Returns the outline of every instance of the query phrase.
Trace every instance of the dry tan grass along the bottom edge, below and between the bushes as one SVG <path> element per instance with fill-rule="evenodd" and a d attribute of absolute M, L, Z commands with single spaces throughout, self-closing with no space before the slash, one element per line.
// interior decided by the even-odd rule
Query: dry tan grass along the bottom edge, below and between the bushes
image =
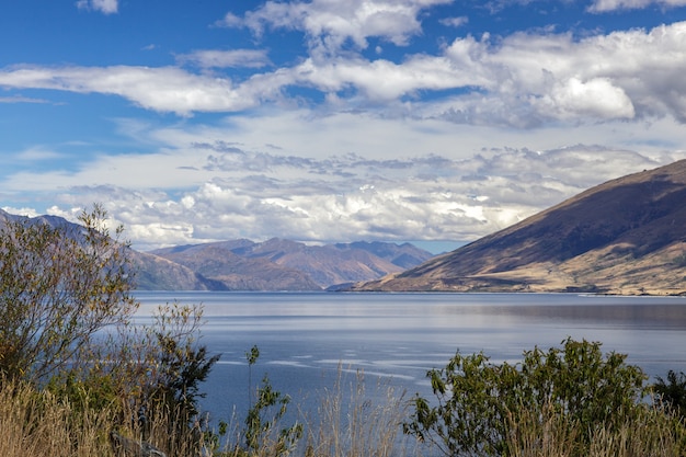
<path fill-rule="evenodd" d="M 110 442 L 110 432 L 140 439 L 142 436 L 168 457 L 194 457 L 201 449 L 213 448 L 221 457 L 396 457 L 434 455 L 435 449 L 420 448 L 401 434 L 408 419 L 408 402 L 402 392 L 388 384 L 377 384 L 368 395 L 362 373 L 346 381 L 343 370 L 332 389 L 320 392 L 320 405 L 313 415 L 296 414 L 305 425 L 305 435 L 293 449 L 279 447 L 284 424 L 274 423 L 265 431 L 260 449 L 245 453 L 241 421 L 229 425 L 221 448 L 205 443 L 199 429 L 183 436 L 170 433 L 174 422 L 164 411 L 150 412 L 151 421 L 142 430 L 132 421 L 134 411 L 121 405 L 98 411 L 70 404 L 48 391 L 27 385 L 4 385 L 0 390 L 0 456 L 2 457 L 119 457 Z M 293 404 L 297 408 L 296 404 Z M 514 419 L 516 418 L 516 420 Z M 235 418 L 236 419 L 236 418 Z M 287 424 L 288 426 L 290 424 Z M 581 425 L 571 423 L 552 409 L 542 414 L 521 411 L 511 418 L 507 441 L 512 457 L 675 457 L 686 455 L 686 424 L 683 420 L 654 408 L 645 408 L 636 420 L 618 430 L 601 427 L 593 433 L 588 447 L 580 446 Z M 205 454 L 208 455 L 208 454 Z"/>

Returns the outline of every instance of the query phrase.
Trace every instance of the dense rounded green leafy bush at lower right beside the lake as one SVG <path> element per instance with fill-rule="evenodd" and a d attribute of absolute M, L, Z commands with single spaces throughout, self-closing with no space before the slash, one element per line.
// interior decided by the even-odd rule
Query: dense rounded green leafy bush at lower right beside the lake
<path fill-rule="evenodd" d="M 517 414 L 530 420 L 552 412 L 562 423 L 581 425 L 580 448 L 569 450 L 584 455 L 596 427 L 611 430 L 636 413 L 647 377 L 625 364 L 626 355 L 604 357 L 599 343 L 568 339 L 563 344 L 525 352 L 517 365 L 495 365 L 481 353 L 458 352 L 445 368 L 427 373 L 437 405 L 418 396 L 405 433 L 434 443 L 448 456 L 506 456 Z"/>

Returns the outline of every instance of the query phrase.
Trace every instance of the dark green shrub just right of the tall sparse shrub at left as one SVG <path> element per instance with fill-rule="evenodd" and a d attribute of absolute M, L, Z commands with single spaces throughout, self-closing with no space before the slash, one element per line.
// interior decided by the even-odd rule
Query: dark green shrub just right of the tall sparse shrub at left
<path fill-rule="evenodd" d="M 151 325 L 140 325 L 135 329 L 138 332 L 128 335 L 125 349 L 133 350 L 135 357 L 116 368 L 127 378 L 124 387 L 135 402 L 132 413 L 139 436 L 147 439 L 155 435 L 152 423 L 158 422 L 158 444 L 172 454 L 199 452 L 203 431 L 198 401 L 205 397 L 199 384 L 220 357 L 210 356 L 199 344 L 202 319 L 201 305 L 158 307 Z M 159 424 L 159 418 L 167 418 L 165 423 Z"/>

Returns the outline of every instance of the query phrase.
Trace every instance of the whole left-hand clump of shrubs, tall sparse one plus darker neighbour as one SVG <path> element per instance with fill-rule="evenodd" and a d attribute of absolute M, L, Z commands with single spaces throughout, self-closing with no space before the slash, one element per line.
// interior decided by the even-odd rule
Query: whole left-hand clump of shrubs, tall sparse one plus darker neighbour
<path fill-rule="evenodd" d="M 105 432 L 135 426 L 138 437 L 163 436 L 174 454 L 197 450 L 198 385 L 218 359 L 197 344 L 202 308 L 168 305 L 152 325 L 134 325 L 123 229 L 112 238 L 99 205 L 79 220 L 18 218 L 0 228 L 0 388 L 24 382 L 68 405 L 60 414 L 75 424 L 106 410 Z M 144 409 L 146 426 L 132 423 Z"/>

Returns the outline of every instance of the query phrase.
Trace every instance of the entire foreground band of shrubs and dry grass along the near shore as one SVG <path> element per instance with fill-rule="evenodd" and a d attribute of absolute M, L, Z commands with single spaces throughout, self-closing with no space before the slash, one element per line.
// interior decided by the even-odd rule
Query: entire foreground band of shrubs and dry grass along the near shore
<path fill-rule="evenodd" d="M 2 456 L 686 454 L 686 375 L 648 385 L 625 355 L 573 340 L 514 365 L 458 352 L 428 372 L 433 399 L 381 386 L 375 403 L 363 374 L 350 391 L 340 378 L 313 416 L 265 377 L 249 381 L 244 420 L 210 429 L 197 401 L 218 356 L 198 343 L 202 308 L 133 325 L 127 244 L 105 216 L 83 213 L 80 232 L 19 220 L 0 233 Z M 245 355 L 251 369 L 258 347 Z"/>

